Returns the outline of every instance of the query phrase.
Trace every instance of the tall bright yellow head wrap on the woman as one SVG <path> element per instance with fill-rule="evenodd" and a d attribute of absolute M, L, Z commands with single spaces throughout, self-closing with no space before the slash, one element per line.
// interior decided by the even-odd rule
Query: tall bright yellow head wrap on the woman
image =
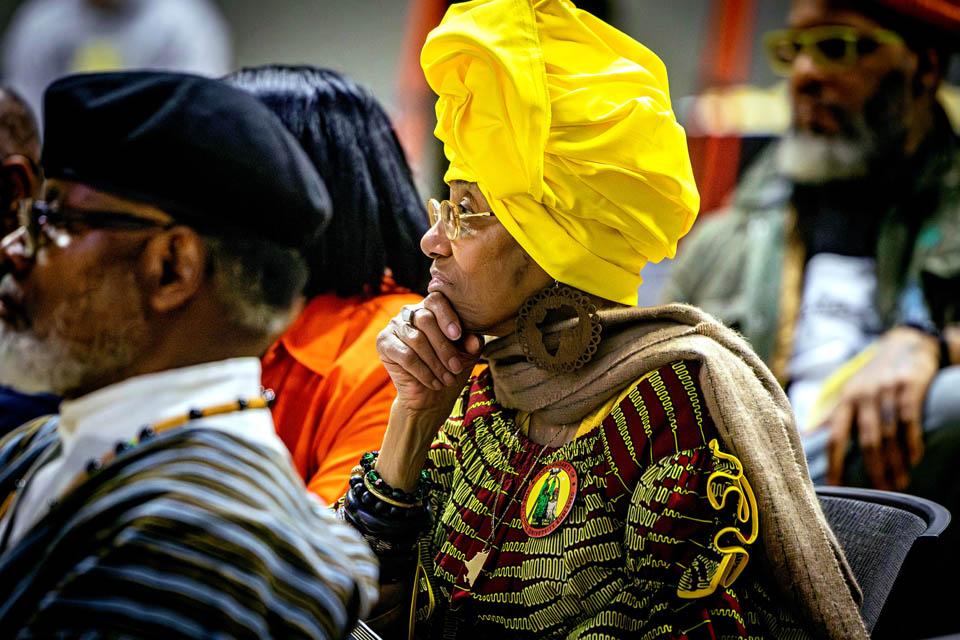
<path fill-rule="evenodd" d="M 437 93 L 445 180 L 478 183 L 553 278 L 637 303 L 700 206 L 667 73 L 567 0 L 455 4 L 420 56 Z"/>

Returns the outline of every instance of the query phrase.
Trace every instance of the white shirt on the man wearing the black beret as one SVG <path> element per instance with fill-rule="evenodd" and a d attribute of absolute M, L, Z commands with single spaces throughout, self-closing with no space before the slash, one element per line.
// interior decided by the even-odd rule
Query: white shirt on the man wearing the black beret
<path fill-rule="evenodd" d="M 7 549 L 11 548 L 46 515 L 54 500 L 63 497 L 70 485 L 86 474 L 90 460 L 99 460 L 118 442 L 135 440 L 145 426 L 187 414 L 191 409 L 258 397 L 260 361 L 234 358 L 137 376 L 64 401 L 57 425 L 60 453 L 26 478 L 27 485 L 14 508 L 0 522 L 0 537 L 13 517 L 7 543 Z M 196 424 L 230 432 L 289 459 L 268 409 L 210 416 Z"/>

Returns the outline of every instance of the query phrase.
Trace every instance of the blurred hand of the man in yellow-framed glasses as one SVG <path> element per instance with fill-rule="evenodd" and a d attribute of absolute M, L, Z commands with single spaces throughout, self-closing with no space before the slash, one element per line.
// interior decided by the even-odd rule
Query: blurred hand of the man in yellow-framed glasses
<path fill-rule="evenodd" d="M 851 435 L 855 435 L 871 484 L 903 489 L 909 469 L 923 457 L 923 403 L 940 366 L 937 340 L 898 327 L 880 338 L 873 359 L 858 371 L 827 418 L 827 482 L 843 481 Z"/>

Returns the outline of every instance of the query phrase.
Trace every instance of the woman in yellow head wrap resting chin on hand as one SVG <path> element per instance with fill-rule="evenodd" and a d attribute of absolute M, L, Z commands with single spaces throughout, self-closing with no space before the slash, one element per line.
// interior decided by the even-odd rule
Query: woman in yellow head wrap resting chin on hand
<path fill-rule="evenodd" d="M 629 306 L 698 206 L 660 60 L 566 0 L 475 0 L 421 62 L 450 199 L 340 505 L 381 559 L 372 624 L 866 637 L 776 380 L 701 312 Z"/>

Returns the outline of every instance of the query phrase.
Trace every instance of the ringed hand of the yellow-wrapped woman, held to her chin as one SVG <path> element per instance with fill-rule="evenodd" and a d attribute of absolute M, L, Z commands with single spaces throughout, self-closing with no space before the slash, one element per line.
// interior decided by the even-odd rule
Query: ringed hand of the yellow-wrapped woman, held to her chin
<path fill-rule="evenodd" d="M 483 338 L 463 335 L 460 318 L 440 293 L 394 317 L 377 338 L 383 366 L 397 388 L 397 405 L 408 413 L 446 418 L 480 357 Z"/>

